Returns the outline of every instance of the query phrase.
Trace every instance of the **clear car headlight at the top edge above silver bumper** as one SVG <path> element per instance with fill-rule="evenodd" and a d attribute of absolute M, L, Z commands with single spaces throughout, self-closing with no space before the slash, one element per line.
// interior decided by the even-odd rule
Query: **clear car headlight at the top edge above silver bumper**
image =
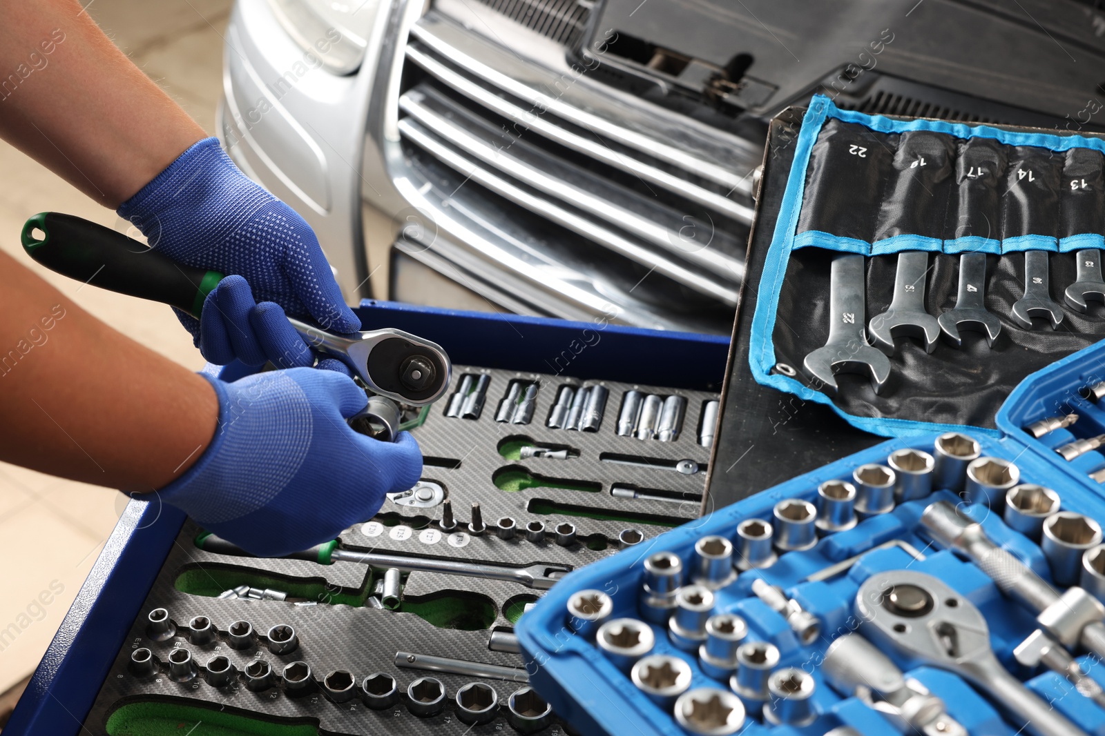
<path fill-rule="evenodd" d="M 377 11 L 388 0 L 269 0 L 273 14 L 304 52 L 334 74 L 356 72 Z"/>

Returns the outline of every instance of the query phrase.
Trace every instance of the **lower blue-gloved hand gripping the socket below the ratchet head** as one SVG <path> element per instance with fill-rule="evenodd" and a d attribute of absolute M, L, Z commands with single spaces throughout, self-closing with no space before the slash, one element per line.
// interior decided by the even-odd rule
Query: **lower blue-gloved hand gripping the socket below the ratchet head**
<path fill-rule="evenodd" d="M 346 423 L 365 392 L 332 371 L 270 371 L 225 383 L 219 426 L 194 466 L 161 500 L 256 555 L 285 555 L 371 519 L 385 494 L 418 482 L 422 456 L 410 433 L 381 442 Z"/>

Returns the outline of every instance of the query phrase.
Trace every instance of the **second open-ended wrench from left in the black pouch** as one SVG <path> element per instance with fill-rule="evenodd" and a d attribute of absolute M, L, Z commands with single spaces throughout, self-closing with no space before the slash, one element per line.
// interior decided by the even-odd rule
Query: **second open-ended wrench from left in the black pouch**
<path fill-rule="evenodd" d="M 925 284 L 928 280 L 928 254 L 904 250 L 898 254 L 894 273 L 894 296 L 882 314 L 873 317 L 867 331 L 871 340 L 887 355 L 894 354 L 894 338 L 916 338 L 925 352 L 936 350 L 940 326 L 925 311 Z"/>

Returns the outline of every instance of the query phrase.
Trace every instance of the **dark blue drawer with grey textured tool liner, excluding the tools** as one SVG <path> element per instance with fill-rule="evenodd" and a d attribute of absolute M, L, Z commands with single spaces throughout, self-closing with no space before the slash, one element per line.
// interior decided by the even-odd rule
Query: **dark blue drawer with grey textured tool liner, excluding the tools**
<path fill-rule="evenodd" d="M 481 537 L 442 534 L 435 526 L 441 515 L 440 506 L 411 509 L 389 500 L 375 523 L 343 533 L 343 546 L 462 561 L 517 565 L 539 562 L 578 567 L 612 554 L 617 547 L 610 546 L 610 541 L 617 540 L 622 530 L 636 529 L 651 536 L 697 513 L 697 500 L 662 502 L 614 498 L 610 487 L 615 482 L 628 483 L 641 490 L 660 489 L 694 499 L 702 493 L 703 472 L 684 474 L 667 468 L 615 465 L 600 461 L 599 455 L 634 455 L 651 458 L 653 462 L 690 459 L 705 467 L 709 450 L 696 441 L 697 425 L 704 401 L 716 398 L 713 392 L 724 375 L 727 350 L 724 338 L 627 329 L 602 320 L 570 323 L 383 302 L 366 302 L 359 314 L 366 329 L 397 327 L 442 344 L 455 362 L 450 394 L 464 374 L 490 374 L 487 398 L 480 419 L 446 417 L 446 394 L 445 399 L 429 409 L 424 424 L 413 429 L 423 454 L 431 459 L 423 470 L 423 479 L 444 487 L 462 529 L 471 518 L 471 502 L 478 501 L 488 531 Z M 478 363 L 481 367 L 466 363 Z M 228 374 L 233 373 L 233 369 L 228 369 Z M 622 377 L 628 382 L 613 380 Z M 534 419 L 528 425 L 494 420 L 498 401 L 512 378 L 541 382 Z M 599 431 L 546 427 L 558 387 L 581 383 L 602 383 L 610 390 Z M 665 395 L 677 393 L 687 398 L 683 429 L 675 441 L 617 436 L 622 393 L 631 387 Z M 503 457 L 498 451 L 502 440 L 519 437 L 541 446 L 568 447 L 577 450 L 579 457 L 520 461 Z M 567 484 L 586 481 L 594 491 L 540 487 L 511 492 L 495 486 L 493 478 L 497 471 L 520 468 L 533 474 L 567 481 Z M 554 504 L 551 512 L 547 509 L 540 513 L 529 511 L 533 503 L 541 502 L 538 500 Z M 565 510 L 555 504 L 573 508 Z M 580 516 L 580 513 L 587 515 Z M 593 518 L 604 514 L 618 519 Z M 494 534 L 495 524 L 504 515 L 517 523 L 519 532 L 513 540 L 502 540 Z M 525 525 L 534 520 L 545 521 L 549 526 L 549 535 L 541 543 L 525 538 Z M 567 547 L 554 543 L 551 526 L 559 521 L 576 524 L 579 530 L 577 543 Z M 513 582 L 411 573 L 404 588 L 404 600 L 414 604 L 411 608 L 421 608 L 428 619 L 439 617 L 439 623 L 444 617 L 449 619 L 448 625 L 471 630 L 439 628 L 414 612 L 328 602 L 356 601 L 358 596 L 371 594 L 379 583 L 369 579 L 367 567 L 345 562 L 324 566 L 301 559 L 262 561 L 213 554 L 194 546 L 192 540 L 198 530 L 191 522 L 181 525 L 182 522 L 179 512 L 168 506 L 159 508 L 156 500 L 149 503 L 133 501 L 128 505 L 13 715 L 8 726 L 11 733 L 81 730 L 102 734 L 106 733 L 106 716 L 120 701 L 166 698 L 169 702 L 185 698 L 185 702 L 203 706 L 239 708 L 265 716 L 295 717 L 299 723 L 318 724 L 327 732 L 343 734 L 380 733 L 381 728 L 389 733 L 463 733 L 467 728 L 457 722 L 452 704 L 441 715 L 423 719 L 408 713 L 403 701 L 394 708 L 376 712 L 359 701 L 341 705 L 330 703 L 318 693 L 291 698 L 280 687 L 260 694 L 244 686 L 217 689 L 207 684 L 202 676 L 177 683 L 165 676 L 164 668 L 160 675 L 141 679 L 131 674 L 127 666 L 130 652 L 138 647 L 148 647 L 161 662 L 167 661 L 169 651 L 175 648 L 190 649 L 200 668 L 218 647 L 218 653 L 229 657 L 239 670 L 256 655 L 269 661 L 276 674 L 285 663 L 303 660 L 318 680 L 332 670 L 345 669 L 357 676 L 358 686 L 369 673 L 388 672 L 396 676 L 402 691 L 419 676 L 438 676 L 450 698 L 465 682 L 481 680 L 491 684 L 504 703 L 523 684 L 401 670 L 396 668 L 393 659 L 396 652 L 407 651 L 522 666 L 516 654 L 490 651 L 488 637 L 493 628 L 509 630 L 506 612 L 514 612 L 526 601 L 535 600 L 540 590 Z M 207 595 L 179 590 L 177 580 L 181 573 L 188 574 L 192 586 L 206 588 Z M 215 589 L 228 580 L 256 580 L 257 575 L 274 578 L 270 587 L 314 584 L 333 591 L 334 598 L 324 596 L 323 602 L 296 606 L 287 601 L 223 600 L 211 595 L 217 595 Z M 211 578 L 207 584 L 204 576 Z M 182 587 L 196 589 L 183 584 Z M 443 601 L 445 597 L 456 600 Z M 168 609 L 181 629 L 166 642 L 154 642 L 146 636 L 146 616 L 157 607 Z M 211 619 L 221 632 L 218 641 L 203 646 L 188 641 L 183 629 L 194 616 Z M 236 620 L 249 621 L 256 631 L 257 642 L 252 648 L 233 650 L 227 646 L 227 629 Z M 288 654 L 273 654 L 264 646 L 263 634 L 276 623 L 290 625 L 297 632 L 299 646 Z M 473 733 L 503 728 L 509 726 L 501 712 L 492 724 L 476 726 Z"/>

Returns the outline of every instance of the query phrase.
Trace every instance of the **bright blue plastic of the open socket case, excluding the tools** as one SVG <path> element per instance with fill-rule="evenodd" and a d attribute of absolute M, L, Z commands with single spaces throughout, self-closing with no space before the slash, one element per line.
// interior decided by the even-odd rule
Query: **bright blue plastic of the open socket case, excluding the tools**
<path fill-rule="evenodd" d="M 997 426 L 1003 433 L 994 437 L 980 430 L 964 428 L 982 447 L 981 455 L 1013 461 L 1020 469 L 1020 482 L 1045 486 L 1056 491 L 1063 511 L 1086 514 L 1105 521 L 1105 491 L 1087 473 L 1105 466 L 1105 456 L 1091 451 L 1067 462 L 1054 448 L 1076 437 L 1105 433 L 1105 406 L 1083 398 L 1080 390 L 1105 378 L 1105 343 L 1097 343 L 1048 369 L 1028 376 L 1008 397 L 997 415 Z M 1070 428 L 1059 429 L 1033 439 L 1022 429 L 1044 417 L 1075 412 L 1080 419 Z M 708 516 L 653 537 L 594 565 L 572 573 L 558 584 L 540 604 L 519 621 L 519 640 L 532 673 L 530 682 L 562 717 L 582 733 L 609 734 L 683 734 L 671 707 L 661 707 L 638 690 L 628 674 L 614 665 L 590 638 L 576 634 L 567 623 L 569 597 L 580 590 L 597 589 L 613 599 L 611 618 L 639 618 L 639 593 L 643 579 L 643 562 L 651 554 L 669 551 L 683 559 L 684 570 L 691 569 L 695 542 L 705 535 L 734 538 L 736 526 L 747 519 L 771 520 L 772 509 L 783 499 L 815 501 L 818 486 L 827 480 L 851 480 L 852 471 L 867 462 L 885 463 L 887 456 L 904 447 L 932 452 L 938 435 L 887 440 L 869 450 L 806 473 L 793 480 L 749 497 L 716 511 Z M 723 463 L 724 465 L 724 463 Z M 738 471 L 739 468 L 735 469 Z M 821 671 L 822 655 L 839 636 L 862 631 L 855 611 L 859 587 L 873 574 L 908 568 L 927 573 L 945 582 L 975 604 L 985 615 L 990 629 L 991 647 L 998 659 L 1028 687 L 1053 703 L 1054 708 L 1088 734 L 1105 735 L 1105 710 L 1080 695 L 1063 678 L 1050 670 L 1027 670 L 1013 658 L 1013 649 L 1038 625 L 1035 614 L 1006 598 L 994 583 L 975 564 L 948 550 L 934 545 L 920 533 L 918 521 L 925 508 L 937 500 L 959 504 L 968 515 L 981 522 L 990 537 L 1028 564 L 1045 580 L 1051 582 L 1049 564 L 1035 542 L 1010 530 L 1001 519 L 1001 508 L 965 504 L 947 490 L 934 490 L 926 499 L 897 505 L 891 513 L 862 519 L 850 531 L 824 534 L 807 552 L 779 555 L 772 566 L 740 573 L 735 582 L 715 593 L 714 612 L 735 612 L 748 625 L 745 641 L 769 641 L 780 652 L 779 666 L 802 668 L 812 673 L 815 690 L 812 696 L 817 718 L 800 728 L 771 726 L 749 715 L 744 730 L 754 734 L 817 734 L 820 736 L 838 726 L 851 726 L 864 736 L 902 733 L 881 714 L 854 696 L 842 696 L 825 682 Z M 1000 499 L 999 499 L 1000 501 Z M 918 561 L 897 546 L 875 550 L 890 540 L 902 540 L 922 551 Z M 867 554 L 863 554 L 870 551 Z M 823 582 L 806 582 L 811 573 L 854 555 L 862 557 L 849 569 Z M 780 586 L 788 597 L 814 614 L 821 634 L 810 646 L 802 646 L 780 614 L 751 594 L 753 580 L 762 577 Z M 1062 587 L 1056 586 L 1061 591 Z M 713 680 L 699 666 L 696 654 L 677 649 L 669 639 L 666 627 L 653 626 L 655 648 L 651 653 L 675 654 L 691 665 L 690 687 L 728 690 L 728 681 Z M 1017 734 L 1022 723 L 1003 717 L 999 707 L 950 672 L 932 666 L 915 666 L 903 661 L 892 650 L 884 650 L 906 676 L 913 676 L 940 696 L 948 714 L 970 734 Z M 1105 684 L 1105 666 L 1083 651 L 1077 658 L 1094 680 Z M 1027 729 L 1024 733 L 1031 733 Z"/>

